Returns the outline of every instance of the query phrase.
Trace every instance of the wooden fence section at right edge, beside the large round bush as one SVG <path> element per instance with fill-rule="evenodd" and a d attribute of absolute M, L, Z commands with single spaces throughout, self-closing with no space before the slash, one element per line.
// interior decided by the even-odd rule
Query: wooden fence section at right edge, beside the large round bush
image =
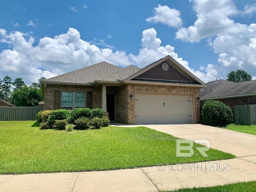
<path fill-rule="evenodd" d="M 235 106 L 236 125 L 256 124 L 256 105 L 236 105 Z"/>

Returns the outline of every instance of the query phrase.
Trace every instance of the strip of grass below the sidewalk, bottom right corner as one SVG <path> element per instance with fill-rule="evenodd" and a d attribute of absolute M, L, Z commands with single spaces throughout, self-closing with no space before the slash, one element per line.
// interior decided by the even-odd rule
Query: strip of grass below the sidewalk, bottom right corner
<path fill-rule="evenodd" d="M 256 181 L 214 187 L 184 188 L 170 192 L 256 192 Z"/>

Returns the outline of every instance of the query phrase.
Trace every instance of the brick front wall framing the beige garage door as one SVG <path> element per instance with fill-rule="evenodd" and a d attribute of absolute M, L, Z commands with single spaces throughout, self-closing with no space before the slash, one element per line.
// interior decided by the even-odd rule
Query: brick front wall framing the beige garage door
<path fill-rule="evenodd" d="M 195 120 L 196 123 L 200 123 L 200 101 L 199 97 L 200 88 L 197 87 L 186 87 L 186 86 L 164 86 L 164 85 L 147 85 L 147 84 L 128 84 L 128 92 L 126 98 L 128 98 L 128 120 L 127 124 L 135 123 L 135 106 L 134 100 L 129 99 L 130 94 L 134 95 L 135 92 L 159 92 L 159 93 L 186 93 L 194 95 L 195 104 Z"/>

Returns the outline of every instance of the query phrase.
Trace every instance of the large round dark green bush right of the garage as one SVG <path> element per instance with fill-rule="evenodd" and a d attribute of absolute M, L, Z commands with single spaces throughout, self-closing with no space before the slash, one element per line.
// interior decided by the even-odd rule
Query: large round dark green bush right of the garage
<path fill-rule="evenodd" d="M 232 121 L 232 110 L 226 104 L 216 100 L 204 102 L 202 106 L 202 124 L 224 127 L 231 124 Z"/>

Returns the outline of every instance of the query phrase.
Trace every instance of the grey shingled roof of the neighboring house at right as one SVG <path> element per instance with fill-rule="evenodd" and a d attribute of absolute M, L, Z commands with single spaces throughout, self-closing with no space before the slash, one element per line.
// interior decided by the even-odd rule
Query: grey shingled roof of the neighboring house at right
<path fill-rule="evenodd" d="M 235 83 L 220 79 L 206 85 L 200 90 L 200 100 L 256 95 L 256 80 Z"/>

